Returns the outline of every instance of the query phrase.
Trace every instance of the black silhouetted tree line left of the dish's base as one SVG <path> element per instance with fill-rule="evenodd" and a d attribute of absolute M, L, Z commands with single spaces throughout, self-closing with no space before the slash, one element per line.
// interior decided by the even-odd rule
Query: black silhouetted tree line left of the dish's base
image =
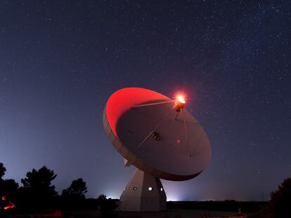
<path fill-rule="evenodd" d="M 0 212 L 4 212 L 4 208 L 9 204 L 11 207 L 15 205 L 13 210 L 18 212 L 115 208 L 112 200 L 104 195 L 96 199 L 86 199 L 87 186 L 82 178 L 73 180 L 70 186 L 58 195 L 56 187 L 52 184 L 57 175 L 46 166 L 27 172 L 25 178 L 21 179 L 22 186 L 14 179 L 4 179 L 5 172 L 4 164 L 0 163 Z"/>

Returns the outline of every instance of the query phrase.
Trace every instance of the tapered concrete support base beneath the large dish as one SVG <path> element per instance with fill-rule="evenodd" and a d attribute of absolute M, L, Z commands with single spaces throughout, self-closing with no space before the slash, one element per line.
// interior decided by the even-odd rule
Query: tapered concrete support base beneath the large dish
<path fill-rule="evenodd" d="M 167 196 L 160 179 L 136 168 L 120 196 L 119 210 L 161 211 L 166 207 Z"/>

